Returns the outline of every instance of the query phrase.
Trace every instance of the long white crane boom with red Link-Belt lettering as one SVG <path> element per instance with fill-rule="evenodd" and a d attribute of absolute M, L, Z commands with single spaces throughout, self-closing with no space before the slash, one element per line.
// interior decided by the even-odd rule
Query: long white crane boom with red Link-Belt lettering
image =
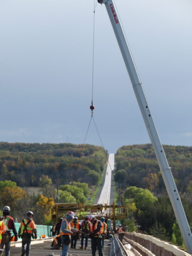
<path fill-rule="evenodd" d="M 149 109 L 149 105 L 145 96 L 145 92 L 143 91 L 142 83 L 140 81 L 137 69 L 135 67 L 135 64 L 131 55 L 131 51 L 129 49 L 129 45 L 126 42 L 121 24 L 119 22 L 119 18 L 115 10 L 115 6 L 112 0 L 98 0 L 98 3 L 105 4 L 106 6 L 109 19 L 111 21 L 111 25 L 114 29 L 114 33 L 117 38 L 119 48 L 123 55 L 126 69 L 131 79 L 133 90 L 137 98 L 142 117 L 147 127 L 147 131 L 148 131 L 151 143 L 153 145 L 159 167 L 161 169 L 163 180 L 165 182 L 167 193 L 169 194 L 171 204 L 173 206 L 175 217 L 177 218 L 179 228 L 181 230 L 183 241 L 186 244 L 187 251 L 190 254 L 192 254 L 192 235 L 191 235 L 190 227 L 186 218 L 186 214 L 183 209 L 181 199 L 173 179 L 171 168 L 169 167 L 169 164 L 167 162 L 167 159 L 163 150 L 162 143 L 159 139 L 157 129 L 153 121 L 153 117 L 151 115 L 151 111 Z"/>

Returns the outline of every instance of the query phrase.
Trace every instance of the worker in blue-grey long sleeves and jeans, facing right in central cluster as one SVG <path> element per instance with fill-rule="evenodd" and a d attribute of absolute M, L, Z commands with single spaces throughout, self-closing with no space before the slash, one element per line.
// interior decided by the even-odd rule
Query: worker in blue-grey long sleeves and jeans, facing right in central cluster
<path fill-rule="evenodd" d="M 73 232 L 77 232 L 77 229 L 71 228 L 70 222 L 75 217 L 74 212 L 68 212 L 66 218 L 61 223 L 60 235 L 62 236 L 62 254 L 61 256 L 68 256 L 70 236 Z"/>

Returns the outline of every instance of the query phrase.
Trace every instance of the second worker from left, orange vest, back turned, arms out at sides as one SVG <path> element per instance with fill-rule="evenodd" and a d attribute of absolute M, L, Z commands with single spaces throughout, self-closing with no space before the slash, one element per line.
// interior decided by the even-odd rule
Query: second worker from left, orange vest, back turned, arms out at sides
<path fill-rule="evenodd" d="M 30 243 L 31 236 L 37 239 L 37 230 L 35 227 L 35 222 L 33 221 L 34 214 L 33 212 L 27 212 L 27 218 L 21 221 L 21 225 L 19 227 L 19 237 L 22 238 L 22 253 L 21 256 L 29 256 L 30 252 Z"/>

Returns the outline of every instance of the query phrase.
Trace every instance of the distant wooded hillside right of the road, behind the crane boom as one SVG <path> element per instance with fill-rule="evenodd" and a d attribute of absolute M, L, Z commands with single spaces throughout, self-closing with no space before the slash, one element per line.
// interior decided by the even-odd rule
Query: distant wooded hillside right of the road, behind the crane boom
<path fill-rule="evenodd" d="M 179 193 L 192 192 L 192 147 L 163 146 Z M 115 179 L 126 186 L 146 188 L 154 195 L 166 188 L 151 144 L 123 146 L 117 150 Z"/>

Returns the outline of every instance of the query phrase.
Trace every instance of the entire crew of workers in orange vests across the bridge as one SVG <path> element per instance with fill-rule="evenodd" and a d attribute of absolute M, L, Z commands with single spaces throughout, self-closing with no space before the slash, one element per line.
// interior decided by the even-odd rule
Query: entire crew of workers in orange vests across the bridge
<path fill-rule="evenodd" d="M 17 233 L 14 220 L 10 216 L 10 207 L 5 206 L 3 208 L 3 217 L 0 218 L 0 249 L 2 251 L 5 246 L 5 256 L 10 256 L 11 241 L 17 242 L 18 237 L 22 238 L 21 256 L 25 254 L 29 256 L 31 237 L 37 238 L 37 230 L 33 221 L 33 212 L 29 211 L 26 215 L 27 217 L 21 221 Z M 64 219 L 60 218 L 57 225 L 53 226 L 52 234 L 53 236 L 57 235 L 53 241 L 53 249 L 60 249 L 62 246 L 62 256 L 68 256 L 69 246 L 71 249 L 76 249 L 77 239 L 80 239 L 81 234 L 81 247 L 79 249 L 87 250 L 89 235 L 91 237 L 92 256 L 96 255 L 97 250 L 99 251 L 99 256 L 103 256 L 103 247 L 107 237 L 105 218 L 101 217 L 98 220 L 91 214 L 85 217 L 81 225 L 77 220 L 75 213 L 70 211 Z M 120 241 L 123 241 L 124 229 L 121 225 L 119 225 L 117 233 Z"/>

